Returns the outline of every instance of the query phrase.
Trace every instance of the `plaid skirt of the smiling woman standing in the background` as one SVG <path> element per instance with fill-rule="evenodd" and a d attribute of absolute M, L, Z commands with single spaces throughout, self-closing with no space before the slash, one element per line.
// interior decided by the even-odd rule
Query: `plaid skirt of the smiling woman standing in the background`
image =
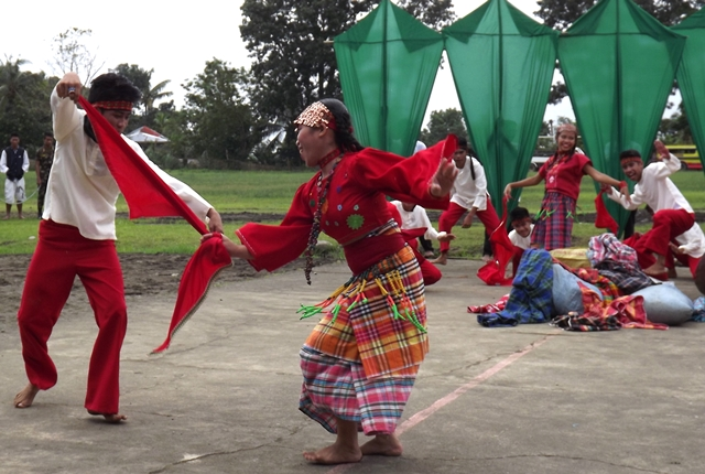
<path fill-rule="evenodd" d="M 573 246 L 573 218 L 575 200 L 565 194 L 546 192 L 536 214 L 536 224 L 531 233 L 531 244 L 540 248 L 568 248 Z"/>

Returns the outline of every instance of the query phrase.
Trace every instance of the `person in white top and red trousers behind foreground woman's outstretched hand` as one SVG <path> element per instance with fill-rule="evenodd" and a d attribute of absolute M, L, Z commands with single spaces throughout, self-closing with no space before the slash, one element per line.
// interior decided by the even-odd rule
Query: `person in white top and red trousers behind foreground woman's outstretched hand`
<path fill-rule="evenodd" d="M 463 228 L 469 228 L 473 225 L 473 217 L 477 215 L 485 225 L 486 234 L 491 234 L 499 227 L 499 217 L 487 193 L 485 169 L 476 158 L 468 154 L 466 139 L 458 138 L 458 148 L 453 153 L 453 161 L 458 169 L 458 175 L 451 191 L 451 204 L 438 219 L 438 230 L 451 234 L 453 226 L 467 213 L 463 219 Z M 442 241 L 441 254 L 432 262 L 446 265 L 449 249 L 451 244 Z"/>

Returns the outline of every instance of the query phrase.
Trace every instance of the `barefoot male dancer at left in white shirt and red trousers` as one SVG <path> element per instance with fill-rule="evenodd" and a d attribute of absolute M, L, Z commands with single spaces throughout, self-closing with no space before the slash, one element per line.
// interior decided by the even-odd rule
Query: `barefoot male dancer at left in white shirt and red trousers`
<path fill-rule="evenodd" d="M 47 341 L 74 278 L 78 276 L 94 309 L 98 335 L 90 356 L 85 407 L 108 422 L 120 422 L 120 348 L 127 330 L 122 270 L 115 248 L 116 202 L 120 190 L 95 140 L 86 112 L 74 100 L 80 79 L 67 73 L 51 97 L 56 152 L 50 175 L 40 238 L 28 270 L 18 324 L 29 384 L 14 398 L 32 406 L 39 390 L 56 384 Z M 93 80 L 88 101 L 120 133 L 140 91 L 126 77 L 104 74 Z M 186 184 L 153 164 L 133 141 L 122 138 L 200 218 L 223 231 L 218 213 Z"/>

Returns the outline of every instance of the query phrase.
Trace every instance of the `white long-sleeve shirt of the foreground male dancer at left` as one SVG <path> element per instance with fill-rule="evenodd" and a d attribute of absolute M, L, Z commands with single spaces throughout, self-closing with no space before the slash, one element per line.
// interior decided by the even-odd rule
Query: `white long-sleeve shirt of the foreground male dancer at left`
<path fill-rule="evenodd" d="M 56 151 L 46 188 L 43 219 L 78 228 L 82 236 L 95 240 L 115 240 L 116 202 L 120 188 L 110 174 L 102 153 L 84 132 L 86 112 L 68 99 L 52 93 Z M 210 204 L 188 185 L 170 176 L 150 161 L 139 144 L 122 139 L 202 219 Z"/>

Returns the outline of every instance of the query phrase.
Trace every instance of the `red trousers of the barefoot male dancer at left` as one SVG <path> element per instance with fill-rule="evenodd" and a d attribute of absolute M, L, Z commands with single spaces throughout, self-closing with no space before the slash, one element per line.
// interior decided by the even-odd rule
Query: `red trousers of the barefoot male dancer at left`
<path fill-rule="evenodd" d="M 52 220 L 40 224 L 40 239 L 18 313 L 26 375 L 42 390 L 56 385 L 56 367 L 46 342 L 76 276 L 86 289 L 98 325 L 85 407 L 99 413 L 118 413 L 120 348 L 128 320 L 122 269 L 112 240 L 87 239 L 76 227 Z"/>

